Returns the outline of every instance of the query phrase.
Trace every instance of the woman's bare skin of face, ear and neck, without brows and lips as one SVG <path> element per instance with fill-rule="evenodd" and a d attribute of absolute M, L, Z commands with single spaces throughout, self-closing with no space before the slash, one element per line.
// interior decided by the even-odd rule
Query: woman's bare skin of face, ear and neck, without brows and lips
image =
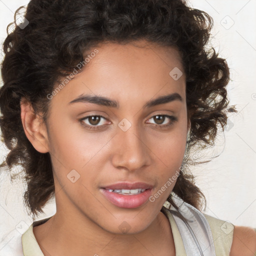
<path fill-rule="evenodd" d="M 175 181 L 154 202 L 136 208 L 113 205 L 100 187 L 143 181 L 153 185 L 153 195 L 181 166 L 190 122 L 180 55 L 172 47 L 145 41 L 96 48 L 99 52 L 86 68 L 50 99 L 47 125 L 21 100 L 25 134 L 37 151 L 50 153 L 56 191 L 56 213 L 34 227 L 34 235 L 47 256 L 175 255 L 169 221 L 160 212 Z M 183 73 L 177 80 L 169 75 L 174 67 Z M 86 93 L 114 99 L 119 108 L 69 104 Z M 150 99 L 170 93 L 182 100 L 142 108 Z M 162 114 L 177 120 L 165 117 L 162 123 L 172 125 L 160 128 L 163 124 L 152 117 Z M 93 126 L 81 120 L 88 115 L 103 115 L 96 124 L 101 128 L 82 125 Z M 131 123 L 127 131 L 118 126 L 123 118 Z M 67 178 L 72 169 L 80 175 L 74 183 Z M 123 221 L 129 227 L 125 234 L 119 228 Z"/>

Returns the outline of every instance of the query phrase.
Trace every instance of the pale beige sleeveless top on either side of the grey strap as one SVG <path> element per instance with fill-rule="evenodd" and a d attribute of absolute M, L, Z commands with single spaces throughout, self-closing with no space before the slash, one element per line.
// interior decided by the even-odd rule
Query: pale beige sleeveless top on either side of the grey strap
<path fill-rule="evenodd" d="M 176 256 L 186 256 L 182 238 L 172 213 L 168 210 L 164 210 L 164 212 L 170 222 Z M 232 244 L 234 225 L 204 213 L 203 215 L 205 216 L 212 232 L 216 256 L 228 256 Z M 21 239 L 24 256 L 44 256 L 33 234 L 33 226 L 40 225 L 46 222 L 49 218 L 50 217 L 34 221 L 22 234 Z"/>

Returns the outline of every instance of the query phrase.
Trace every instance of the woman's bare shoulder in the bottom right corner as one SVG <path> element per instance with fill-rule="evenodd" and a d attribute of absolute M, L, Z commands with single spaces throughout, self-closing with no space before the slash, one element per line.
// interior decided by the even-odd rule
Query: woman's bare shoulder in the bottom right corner
<path fill-rule="evenodd" d="M 234 226 L 229 256 L 256 255 L 256 231 L 246 226 Z"/>

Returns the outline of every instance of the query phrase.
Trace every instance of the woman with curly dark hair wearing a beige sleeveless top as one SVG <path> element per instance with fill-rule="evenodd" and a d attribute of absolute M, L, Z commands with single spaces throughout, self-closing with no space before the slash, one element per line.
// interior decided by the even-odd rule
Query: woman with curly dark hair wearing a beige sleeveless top
<path fill-rule="evenodd" d="M 235 111 L 211 27 L 181 0 L 29 2 L 3 44 L 0 125 L 31 214 L 53 195 L 56 213 L 23 255 L 255 254 L 254 230 L 202 213 L 186 173 Z"/>

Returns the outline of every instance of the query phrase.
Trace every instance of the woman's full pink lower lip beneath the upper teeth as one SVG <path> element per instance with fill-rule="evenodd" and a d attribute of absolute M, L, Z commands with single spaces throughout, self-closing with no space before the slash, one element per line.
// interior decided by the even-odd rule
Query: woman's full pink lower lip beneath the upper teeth
<path fill-rule="evenodd" d="M 151 194 L 151 188 L 146 189 L 144 192 L 141 192 L 139 194 L 118 194 L 116 192 L 110 192 L 104 188 L 100 188 L 100 191 L 103 193 L 103 195 L 114 205 L 120 207 L 120 208 L 136 208 L 144 204 L 150 194 Z"/>

